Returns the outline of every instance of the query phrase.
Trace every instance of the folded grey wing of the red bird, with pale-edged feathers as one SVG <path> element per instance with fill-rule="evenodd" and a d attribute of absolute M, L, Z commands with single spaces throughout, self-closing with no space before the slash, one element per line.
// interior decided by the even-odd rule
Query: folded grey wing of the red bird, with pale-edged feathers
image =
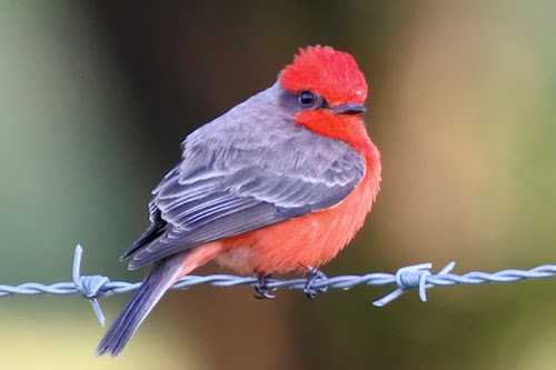
<path fill-rule="evenodd" d="M 182 161 L 152 191 L 152 226 L 125 254 L 139 250 L 130 269 L 332 207 L 365 176 L 351 147 L 294 122 L 214 123 L 186 139 Z"/>

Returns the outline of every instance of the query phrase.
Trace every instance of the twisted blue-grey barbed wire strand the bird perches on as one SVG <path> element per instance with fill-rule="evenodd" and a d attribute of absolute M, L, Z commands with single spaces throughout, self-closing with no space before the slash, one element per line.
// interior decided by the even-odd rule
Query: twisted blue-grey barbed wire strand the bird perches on
<path fill-rule="evenodd" d="M 50 286 L 37 282 L 27 282 L 14 287 L 0 284 L 0 298 L 13 294 L 81 294 L 90 300 L 100 324 L 105 326 L 106 319 L 98 302 L 98 298 L 137 290 L 141 282 L 110 281 L 109 278 L 98 274 L 81 276 L 80 270 L 82 253 L 83 249 L 78 244 L 73 256 L 73 281 L 57 282 Z M 317 281 L 314 281 L 311 283 L 311 288 L 326 291 L 327 288 L 348 290 L 363 284 L 374 287 L 396 286 L 396 290 L 373 303 L 376 307 L 384 307 L 411 289 L 418 289 L 420 300 L 426 302 L 427 289 L 433 287 L 484 284 L 489 282 L 515 282 L 526 279 L 547 279 L 556 277 L 556 264 L 543 264 L 530 270 L 508 269 L 493 273 L 474 271 L 461 276 L 450 273 L 455 264 L 455 262 L 449 262 L 438 273 L 430 272 L 433 267 L 431 263 L 420 263 L 403 267 L 396 273 L 374 272 L 363 276 L 346 274 L 332 278 L 322 277 Z M 181 290 L 200 284 L 209 284 L 214 287 L 255 287 L 257 283 L 258 279 L 256 277 L 237 277 L 232 274 L 211 274 L 206 277 L 186 276 L 181 278 L 171 289 Z M 279 288 L 302 290 L 306 288 L 306 278 L 284 280 L 268 279 L 266 281 L 266 287 L 269 290 L 277 290 Z"/>

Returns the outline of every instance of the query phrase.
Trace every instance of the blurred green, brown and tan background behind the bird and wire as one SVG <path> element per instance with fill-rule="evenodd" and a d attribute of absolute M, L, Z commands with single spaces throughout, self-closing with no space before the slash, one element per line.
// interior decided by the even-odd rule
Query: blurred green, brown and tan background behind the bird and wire
<path fill-rule="evenodd" d="M 118 257 L 148 226 L 180 141 L 275 81 L 299 47 L 353 53 L 384 160 L 365 228 L 325 267 L 455 272 L 556 260 L 554 1 L 0 2 L 0 283 L 139 280 Z M 221 272 L 207 266 L 198 273 Z M 0 299 L 2 369 L 554 369 L 554 281 L 309 301 L 171 292 L 118 359 L 72 297 Z M 129 296 L 101 300 L 109 322 Z"/>

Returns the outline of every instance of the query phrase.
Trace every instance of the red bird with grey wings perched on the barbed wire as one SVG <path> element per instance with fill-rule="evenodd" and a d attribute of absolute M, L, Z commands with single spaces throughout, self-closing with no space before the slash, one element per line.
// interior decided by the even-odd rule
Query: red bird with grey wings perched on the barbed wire
<path fill-rule="evenodd" d="M 165 292 L 210 260 L 258 277 L 308 273 L 354 238 L 380 184 L 380 154 L 361 113 L 368 92 L 347 52 L 300 48 L 277 81 L 201 126 L 152 190 L 150 227 L 123 253 L 150 272 L 96 354 L 118 356 Z"/>

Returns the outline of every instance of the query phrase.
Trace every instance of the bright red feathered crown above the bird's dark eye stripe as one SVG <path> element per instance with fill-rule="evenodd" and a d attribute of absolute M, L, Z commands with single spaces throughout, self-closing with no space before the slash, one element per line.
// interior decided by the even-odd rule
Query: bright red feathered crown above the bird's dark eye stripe
<path fill-rule="evenodd" d="M 299 49 L 279 80 L 286 90 L 314 91 L 332 107 L 345 102 L 363 104 L 367 98 L 367 83 L 354 58 L 330 47 Z"/>

